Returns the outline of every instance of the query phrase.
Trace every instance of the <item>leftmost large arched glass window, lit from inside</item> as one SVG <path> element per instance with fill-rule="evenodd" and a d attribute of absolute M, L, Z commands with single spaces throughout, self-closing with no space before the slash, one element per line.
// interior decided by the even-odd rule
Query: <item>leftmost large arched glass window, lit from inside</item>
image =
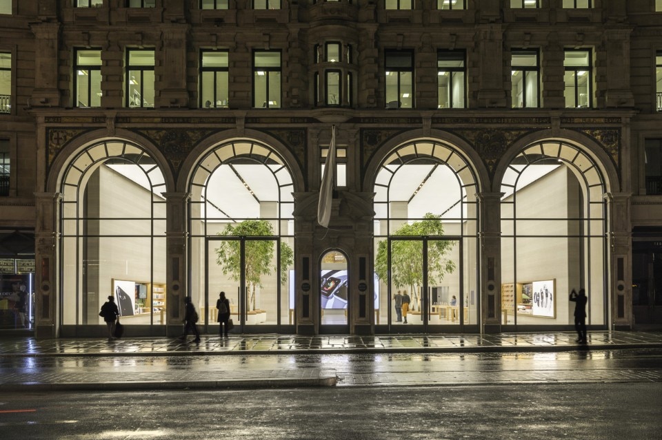
<path fill-rule="evenodd" d="M 164 191 L 134 143 L 100 141 L 72 159 L 60 187 L 63 325 L 103 325 L 108 296 L 122 324 L 165 324 Z"/>

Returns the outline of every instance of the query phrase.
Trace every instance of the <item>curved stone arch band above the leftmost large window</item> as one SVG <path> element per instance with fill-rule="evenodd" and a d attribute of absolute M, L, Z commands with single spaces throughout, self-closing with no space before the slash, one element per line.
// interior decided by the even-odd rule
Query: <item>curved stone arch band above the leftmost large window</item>
<path fill-rule="evenodd" d="M 108 136 L 108 131 L 106 129 L 99 129 L 82 134 L 59 151 L 48 171 L 46 191 L 59 191 L 66 167 L 81 151 L 92 145 L 97 145 L 98 143 L 109 140 L 119 140 L 121 142 L 132 143 L 147 151 L 161 169 L 161 173 L 163 173 L 166 191 L 172 191 L 172 189 L 174 189 L 174 176 L 172 175 L 172 169 L 168 165 L 168 160 L 165 159 L 165 156 L 163 156 L 159 148 L 154 145 L 151 140 L 124 129 L 116 129 L 114 136 Z"/>

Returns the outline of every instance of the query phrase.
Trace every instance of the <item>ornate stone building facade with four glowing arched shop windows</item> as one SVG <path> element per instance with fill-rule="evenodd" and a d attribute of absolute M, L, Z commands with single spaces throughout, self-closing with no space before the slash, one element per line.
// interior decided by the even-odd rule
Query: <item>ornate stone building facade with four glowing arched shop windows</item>
<path fill-rule="evenodd" d="M 661 160 L 654 151 L 662 139 L 656 74 L 656 65 L 662 68 L 662 12 L 656 12 L 655 1 L 592 0 L 588 8 L 562 0 L 540 0 L 532 8 L 508 0 L 1 3 L 10 5 L 9 13 L 0 14 L 0 54 L 10 59 L 11 104 L 0 113 L 3 160 L 10 170 L 8 191 L 0 197 L 0 229 L 6 242 L 17 234 L 34 237 L 31 250 L 6 246 L 3 258 L 34 258 L 37 337 L 103 335 L 103 322 L 94 315 L 108 293 L 117 294 L 119 284 L 111 286 L 110 280 L 121 278 L 90 275 L 97 270 L 90 263 L 93 254 L 95 264 L 104 264 L 99 255 L 105 251 L 99 249 L 106 246 L 106 233 L 126 243 L 134 235 L 150 243 L 145 275 L 126 275 L 150 289 L 149 319 L 135 326 L 136 334 L 179 334 L 187 295 L 196 295 L 205 309 L 202 324 L 215 325 L 208 313 L 216 300 L 210 291 L 213 258 L 203 249 L 214 247 L 210 240 L 217 230 L 207 218 L 207 199 L 196 196 L 198 186 L 207 191 L 203 174 L 205 167 L 214 170 L 208 165 L 214 157 L 214 166 L 248 160 L 268 165 L 274 176 L 281 165 L 289 176 L 275 177 L 287 189 L 270 200 L 276 208 L 264 200 L 259 205 L 260 216 L 277 225 L 274 240 L 287 241 L 293 250 L 290 279 L 268 306 L 278 319 L 269 326 L 250 322 L 249 300 L 241 296 L 249 284 L 243 273 L 235 280 L 240 294 L 234 311 L 242 331 L 571 328 L 566 297 L 583 286 L 592 286 L 594 328 L 662 322 L 662 296 L 654 293 L 660 280 L 651 257 L 662 248 L 662 188 L 655 183 L 661 174 L 654 171 Z M 97 62 L 83 62 L 86 51 L 98 54 Z M 144 51 L 152 58 L 139 58 Z M 214 56 L 208 66 L 204 54 Z M 519 65 L 521 59 L 528 61 Z M 203 80 L 208 71 L 215 82 Z M 516 72 L 532 81 L 523 83 L 526 92 L 517 89 Z M 93 74 L 99 75 L 96 86 L 78 78 Z M 134 74 L 149 90 L 134 86 Z M 445 75 L 455 82 L 443 82 Z M 261 76 L 270 79 L 264 83 Z M 83 85 L 90 86 L 89 94 Z M 520 102 L 519 92 L 528 98 Z M 332 126 L 343 152 L 338 160 L 344 180 L 334 189 L 326 229 L 317 223 L 317 209 Z M 249 146 L 242 154 L 239 145 Z M 159 178 L 150 178 L 158 200 L 135 218 L 101 215 L 108 209 L 103 199 L 94 202 L 94 213 L 92 192 L 82 189 L 103 179 L 103 173 L 86 174 L 88 167 L 119 159 L 138 167 L 143 160 L 148 178 L 152 169 L 159 171 Z M 554 161 L 568 167 L 556 178 L 572 181 L 558 197 L 545 187 L 547 178 L 534 179 L 528 193 L 514 183 L 521 182 L 525 166 Z M 410 315 L 414 324 L 404 327 L 393 300 L 403 286 L 370 274 L 378 265 L 379 242 L 388 242 L 392 251 L 402 238 L 397 226 L 422 218 L 399 202 L 433 185 L 414 172 L 419 189 L 396 200 L 396 188 L 390 187 L 395 180 L 381 182 L 380 173 L 416 164 L 439 165 L 459 182 L 460 213 L 445 223 L 457 242 L 453 252 L 459 252 L 452 254 L 457 284 L 449 281 L 449 292 L 458 292 L 459 316 L 451 322 L 443 311 L 442 317 L 450 304 L 441 282 L 433 286 L 428 273 L 415 284 L 420 298 Z M 545 172 L 551 179 L 552 171 Z M 250 186 L 245 175 L 242 181 Z M 519 205 L 506 187 L 515 188 Z M 381 188 L 387 196 L 380 196 Z M 432 191 L 430 205 L 444 191 L 443 185 Z M 122 191 L 115 197 L 118 205 L 132 203 L 122 201 Z M 517 208 L 525 204 L 528 212 Z M 557 216 L 550 209 L 543 215 L 545 205 L 563 205 L 567 212 Z M 196 214 L 202 211 L 204 220 Z M 527 223 L 536 212 L 539 223 Z M 443 212 L 434 213 L 445 220 Z M 126 220 L 117 226 L 123 232 L 103 232 L 106 218 Z M 146 232 L 136 226 L 143 220 Z M 561 223 L 554 242 L 545 242 L 546 229 Z M 415 237 L 425 249 L 439 239 Z M 243 235 L 237 240 L 242 246 L 250 241 Z M 344 320 L 325 327 L 323 316 L 331 312 L 324 310 L 316 286 L 324 280 L 322 256 L 328 251 L 343 255 L 348 293 Z M 430 264 L 432 251 L 421 253 Z M 558 258 L 545 262 L 548 253 Z M 394 264 L 394 255 L 388 256 Z M 563 270 L 523 275 L 534 270 L 525 267 L 532 258 Z M 650 271 L 642 273 L 641 264 Z M 558 300 L 550 298 L 554 309 L 545 315 L 542 300 L 536 304 L 533 296 L 537 291 L 527 289 L 550 280 Z M 156 306 L 157 285 L 165 292 L 163 308 Z M 136 289 L 134 302 L 147 298 Z M 515 291 L 511 302 L 504 298 L 508 289 Z M 378 298 L 370 295 L 377 290 Z M 132 306 L 136 315 L 143 312 L 137 303 Z M 456 311 L 451 313 L 455 318 Z M 549 320 L 532 319 L 531 313 Z"/>

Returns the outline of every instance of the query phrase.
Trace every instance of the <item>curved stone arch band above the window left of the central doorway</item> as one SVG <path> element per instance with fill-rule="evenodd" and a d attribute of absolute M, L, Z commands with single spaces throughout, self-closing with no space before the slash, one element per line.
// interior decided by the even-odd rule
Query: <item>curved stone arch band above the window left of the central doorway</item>
<path fill-rule="evenodd" d="M 294 157 L 290 149 L 285 147 L 285 145 L 283 145 L 283 143 L 277 138 L 252 129 L 244 129 L 241 132 L 236 129 L 225 130 L 203 139 L 201 143 L 190 151 L 187 158 L 183 161 L 177 178 L 177 191 L 188 191 L 188 184 L 192 178 L 193 171 L 205 154 L 212 151 L 215 147 L 220 147 L 221 145 L 230 143 L 234 140 L 254 141 L 273 149 L 279 156 L 281 156 L 281 158 L 283 158 L 285 165 L 290 170 L 294 191 L 303 191 L 305 184 L 303 181 L 301 164 L 299 163 L 299 160 Z"/>

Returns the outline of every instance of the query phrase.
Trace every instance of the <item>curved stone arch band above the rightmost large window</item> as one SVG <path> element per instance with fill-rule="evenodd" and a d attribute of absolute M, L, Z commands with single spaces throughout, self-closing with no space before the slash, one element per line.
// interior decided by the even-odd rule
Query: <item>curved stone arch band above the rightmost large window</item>
<path fill-rule="evenodd" d="M 605 179 L 605 191 L 620 191 L 621 185 L 619 173 L 612 162 L 612 158 L 610 158 L 605 149 L 591 138 L 588 138 L 588 136 L 564 129 L 561 129 L 560 131 L 555 130 L 553 133 L 551 129 L 542 130 L 516 140 L 516 142 L 505 151 L 505 154 L 501 156 L 499 163 L 494 169 L 494 180 L 492 180 L 493 191 L 501 191 L 501 180 L 503 180 L 505 171 L 508 169 L 512 160 L 514 160 L 523 149 L 530 145 L 543 143 L 545 141 L 564 142 L 576 147 L 579 151 L 582 151 L 589 156 L 599 168 Z"/>

